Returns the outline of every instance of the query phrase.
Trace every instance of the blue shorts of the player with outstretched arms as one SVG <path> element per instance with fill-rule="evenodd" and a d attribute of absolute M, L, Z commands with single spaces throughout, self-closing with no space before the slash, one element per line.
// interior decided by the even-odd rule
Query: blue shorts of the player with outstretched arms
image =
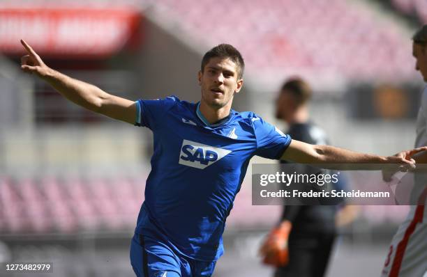
<path fill-rule="evenodd" d="M 199 277 L 212 276 L 216 262 L 185 258 L 158 239 L 135 233 L 130 264 L 138 277 Z"/>

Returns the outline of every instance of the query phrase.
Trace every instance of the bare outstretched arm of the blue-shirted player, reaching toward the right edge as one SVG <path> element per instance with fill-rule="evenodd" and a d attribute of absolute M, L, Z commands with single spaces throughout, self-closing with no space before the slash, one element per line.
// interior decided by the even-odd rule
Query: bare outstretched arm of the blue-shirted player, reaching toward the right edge
<path fill-rule="evenodd" d="M 382 157 L 353 152 L 330 145 L 312 145 L 292 140 L 280 159 L 301 164 L 404 164 L 414 167 L 415 161 L 412 159 L 412 155 L 425 150 L 427 150 L 427 147 L 402 151 L 394 156 Z"/>

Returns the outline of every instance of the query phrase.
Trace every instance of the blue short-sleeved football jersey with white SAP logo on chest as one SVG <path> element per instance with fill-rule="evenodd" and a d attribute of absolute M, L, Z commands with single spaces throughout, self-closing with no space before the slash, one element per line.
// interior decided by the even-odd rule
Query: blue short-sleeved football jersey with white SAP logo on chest
<path fill-rule="evenodd" d="M 182 255 L 216 260 L 225 219 L 254 155 L 279 159 L 290 144 L 252 112 L 230 111 L 217 125 L 175 96 L 137 101 L 135 125 L 151 129 L 154 153 L 135 232 L 156 234 Z"/>

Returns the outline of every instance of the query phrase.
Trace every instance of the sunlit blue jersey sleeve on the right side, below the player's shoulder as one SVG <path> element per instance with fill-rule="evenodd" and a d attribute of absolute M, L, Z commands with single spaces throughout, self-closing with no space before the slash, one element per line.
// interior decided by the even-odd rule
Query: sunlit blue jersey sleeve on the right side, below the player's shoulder
<path fill-rule="evenodd" d="M 267 159 L 280 159 L 290 145 L 291 137 L 260 117 L 253 117 L 252 122 L 257 139 L 255 155 Z"/>

